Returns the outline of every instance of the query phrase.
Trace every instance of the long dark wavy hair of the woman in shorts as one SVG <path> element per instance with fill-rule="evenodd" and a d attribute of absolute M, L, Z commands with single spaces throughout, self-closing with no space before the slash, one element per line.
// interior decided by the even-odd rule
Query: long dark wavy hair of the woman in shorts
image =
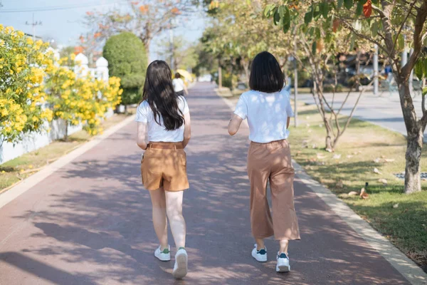
<path fill-rule="evenodd" d="M 172 85 L 171 68 L 164 61 L 153 61 L 147 68 L 142 100 L 147 100 L 160 125 L 163 118 L 167 130 L 176 130 L 184 124 L 184 115 L 178 107 L 178 95 Z"/>

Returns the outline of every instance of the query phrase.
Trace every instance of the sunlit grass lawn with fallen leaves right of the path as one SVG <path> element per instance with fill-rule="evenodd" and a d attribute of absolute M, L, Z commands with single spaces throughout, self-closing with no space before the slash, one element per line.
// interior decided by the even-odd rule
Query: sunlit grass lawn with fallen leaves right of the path
<path fill-rule="evenodd" d="M 295 129 L 291 122 L 289 138 L 295 161 L 427 271 L 427 182 L 422 192 L 405 195 L 404 180 L 393 175 L 405 170 L 404 136 L 353 119 L 335 152 L 326 152 L 325 128 L 315 105 L 299 108 L 300 126 Z M 421 169 L 427 171 L 427 147 Z M 348 195 L 360 192 L 365 182 L 368 199 Z"/>

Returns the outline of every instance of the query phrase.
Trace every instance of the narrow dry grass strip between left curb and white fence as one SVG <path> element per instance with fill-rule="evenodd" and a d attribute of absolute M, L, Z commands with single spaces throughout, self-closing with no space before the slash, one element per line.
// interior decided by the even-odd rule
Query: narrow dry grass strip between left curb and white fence
<path fill-rule="evenodd" d="M 130 113 L 135 110 L 130 110 Z M 125 120 L 127 115 L 115 114 L 111 118 L 102 122 L 102 128 L 106 130 L 112 125 Z M 28 152 L 14 160 L 9 160 L 0 165 L 0 193 L 7 190 L 11 185 L 25 179 L 26 177 L 37 172 L 41 167 L 57 160 L 59 157 L 74 150 L 84 142 L 88 142 L 92 137 L 85 131 L 80 130 L 73 133 L 68 138 L 68 142 L 56 140 L 46 147 L 41 147 L 33 152 Z"/>

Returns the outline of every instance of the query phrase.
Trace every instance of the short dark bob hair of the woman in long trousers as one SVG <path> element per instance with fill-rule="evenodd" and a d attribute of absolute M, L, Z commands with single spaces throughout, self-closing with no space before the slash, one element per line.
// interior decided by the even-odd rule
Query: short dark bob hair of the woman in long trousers
<path fill-rule="evenodd" d="M 253 58 L 249 87 L 255 91 L 275 93 L 282 90 L 284 84 L 282 68 L 273 54 L 268 51 L 258 53 Z"/>

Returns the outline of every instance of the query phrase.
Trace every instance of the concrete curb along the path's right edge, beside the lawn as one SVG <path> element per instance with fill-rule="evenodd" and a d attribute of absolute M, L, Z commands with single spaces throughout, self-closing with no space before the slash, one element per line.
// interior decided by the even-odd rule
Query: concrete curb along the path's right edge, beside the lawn
<path fill-rule="evenodd" d="M 218 95 L 217 92 L 216 95 Z M 235 104 L 227 98 L 224 98 L 221 95 L 218 95 L 218 97 L 222 98 L 231 110 L 235 108 Z M 244 123 L 246 122 L 247 121 L 245 120 Z M 315 192 L 317 197 L 320 197 L 320 199 L 322 199 L 322 201 L 325 202 L 325 204 L 327 204 L 327 206 L 330 207 L 330 209 L 337 214 L 339 218 L 348 224 L 354 232 L 357 232 L 357 234 L 359 234 L 359 236 L 369 244 L 369 247 L 375 249 L 381 257 L 384 257 L 386 261 L 389 261 L 391 266 L 399 271 L 399 273 L 412 285 L 427 284 L 427 274 L 423 269 L 421 269 L 421 267 L 406 257 L 406 255 L 394 247 L 388 239 L 381 236 L 379 232 L 376 232 L 368 222 L 356 214 L 345 202 L 339 199 L 337 195 L 334 195 L 334 193 L 329 189 L 313 180 L 310 175 L 307 175 L 305 170 L 298 165 L 295 160 L 292 160 L 292 164 L 295 168 L 297 179 Z"/>

